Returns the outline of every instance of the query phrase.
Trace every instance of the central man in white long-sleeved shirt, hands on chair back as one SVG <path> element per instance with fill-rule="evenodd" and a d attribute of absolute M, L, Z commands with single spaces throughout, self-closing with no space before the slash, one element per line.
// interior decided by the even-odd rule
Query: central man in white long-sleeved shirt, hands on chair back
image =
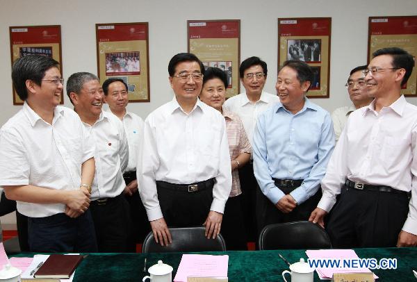
<path fill-rule="evenodd" d="M 206 226 L 220 233 L 231 190 L 231 163 L 224 117 L 199 101 L 204 66 L 192 53 L 168 65 L 175 97 L 145 119 L 138 155 L 142 202 L 156 242 L 172 242 L 169 226 Z"/>

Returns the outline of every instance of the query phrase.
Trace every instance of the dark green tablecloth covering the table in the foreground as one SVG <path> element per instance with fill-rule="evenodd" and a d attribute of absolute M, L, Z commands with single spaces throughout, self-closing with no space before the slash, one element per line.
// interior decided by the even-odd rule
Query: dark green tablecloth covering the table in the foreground
<path fill-rule="evenodd" d="M 417 281 L 412 269 L 417 269 L 417 248 L 355 249 L 359 258 L 397 258 L 397 269 L 375 269 L 378 281 Z M 229 255 L 229 281 L 283 281 L 281 272 L 288 266 L 279 258 L 278 253 L 295 263 L 300 258 L 307 259 L 304 250 L 279 251 L 225 251 L 206 252 L 204 254 Z M 16 256 L 33 256 L 17 254 Z M 76 270 L 74 281 L 142 281 L 147 273 L 143 272 L 145 257 L 147 268 L 158 260 L 174 268 L 172 279 L 181 253 L 164 254 L 90 254 Z M 315 273 L 315 281 L 320 281 Z"/>

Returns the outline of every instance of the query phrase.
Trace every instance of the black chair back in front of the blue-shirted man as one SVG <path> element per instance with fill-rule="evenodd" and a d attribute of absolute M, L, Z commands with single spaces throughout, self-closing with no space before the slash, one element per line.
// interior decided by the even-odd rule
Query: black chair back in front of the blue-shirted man
<path fill-rule="evenodd" d="M 331 248 L 325 229 L 313 222 L 287 222 L 265 226 L 259 235 L 259 249 Z"/>

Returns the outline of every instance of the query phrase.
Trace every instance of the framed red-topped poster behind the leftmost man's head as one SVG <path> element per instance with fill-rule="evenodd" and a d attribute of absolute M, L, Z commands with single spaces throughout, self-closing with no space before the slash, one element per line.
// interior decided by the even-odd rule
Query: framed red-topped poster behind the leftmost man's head
<path fill-rule="evenodd" d="M 40 54 L 54 58 L 60 65 L 61 76 L 63 75 L 60 26 L 10 26 L 9 33 L 12 65 L 17 58 Z M 63 93 L 60 103 L 64 103 Z M 13 105 L 23 105 L 14 86 Z"/>

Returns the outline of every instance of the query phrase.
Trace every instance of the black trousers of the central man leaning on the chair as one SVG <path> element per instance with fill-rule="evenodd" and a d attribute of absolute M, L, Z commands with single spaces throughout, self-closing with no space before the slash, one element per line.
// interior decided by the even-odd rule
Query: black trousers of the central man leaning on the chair
<path fill-rule="evenodd" d="M 185 192 L 171 189 L 169 184 L 156 181 L 159 206 L 167 226 L 201 226 L 206 221 L 213 201 L 213 185 L 204 190 Z"/>

